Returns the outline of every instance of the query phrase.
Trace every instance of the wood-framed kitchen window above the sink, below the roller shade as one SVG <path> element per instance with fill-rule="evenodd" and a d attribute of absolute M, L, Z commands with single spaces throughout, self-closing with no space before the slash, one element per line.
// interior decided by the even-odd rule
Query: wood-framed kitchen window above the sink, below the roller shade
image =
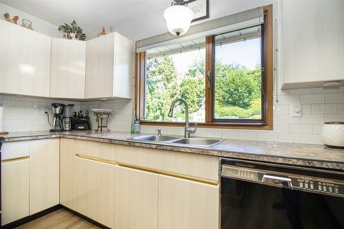
<path fill-rule="evenodd" d="M 136 113 L 148 125 L 182 126 L 189 105 L 199 127 L 272 129 L 272 15 L 230 32 L 162 45 L 136 55 Z"/>

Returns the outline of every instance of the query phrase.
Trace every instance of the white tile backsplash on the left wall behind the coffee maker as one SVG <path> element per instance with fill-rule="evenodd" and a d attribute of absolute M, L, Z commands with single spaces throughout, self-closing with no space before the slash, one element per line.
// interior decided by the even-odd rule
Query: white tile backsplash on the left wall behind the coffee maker
<path fill-rule="evenodd" d="M 44 111 L 49 113 L 50 122 L 52 122 L 51 104 L 53 102 L 74 104 L 76 109 L 79 109 L 79 102 L 0 95 L 0 104 L 3 105 L 3 131 L 46 131 L 51 129 Z"/>

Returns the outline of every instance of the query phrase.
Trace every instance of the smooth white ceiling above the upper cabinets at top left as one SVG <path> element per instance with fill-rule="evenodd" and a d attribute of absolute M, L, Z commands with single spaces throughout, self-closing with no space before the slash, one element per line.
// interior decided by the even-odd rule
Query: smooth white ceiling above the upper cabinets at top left
<path fill-rule="evenodd" d="M 170 6 L 172 0 L 0 0 L 54 25 L 76 20 L 87 34 Z"/>

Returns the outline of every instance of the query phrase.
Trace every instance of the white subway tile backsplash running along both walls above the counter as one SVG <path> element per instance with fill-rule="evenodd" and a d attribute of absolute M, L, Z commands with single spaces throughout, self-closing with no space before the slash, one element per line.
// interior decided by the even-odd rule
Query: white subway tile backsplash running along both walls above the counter
<path fill-rule="evenodd" d="M 277 102 L 278 99 L 278 102 Z M 73 103 L 76 109 L 105 108 L 114 109 L 109 118 L 109 128 L 113 131 L 130 131 L 133 100 L 115 99 L 105 102 L 72 102 L 16 96 L 0 96 L 4 107 L 3 126 L 5 131 L 37 131 L 50 129 L 44 111 L 52 111 L 52 102 Z M 302 116 L 292 117 L 292 102 L 302 103 Z M 96 128 L 91 114 L 92 127 Z M 289 89 L 278 91 L 274 96 L 274 130 L 254 131 L 235 129 L 197 129 L 195 135 L 213 138 L 236 138 L 274 142 L 295 142 L 322 144 L 321 129 L 323 122 L 344 121 L 344 87 L 338 89 Z M 142 133 L 155 133 L 162 129 L 163 134 L 182 135 L 182 127 L 141 126 Z"/>

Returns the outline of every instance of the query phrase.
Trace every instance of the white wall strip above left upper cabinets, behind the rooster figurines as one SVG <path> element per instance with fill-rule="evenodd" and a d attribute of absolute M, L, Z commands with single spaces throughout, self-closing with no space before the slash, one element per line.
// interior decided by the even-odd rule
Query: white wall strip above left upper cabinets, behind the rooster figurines
<path fill-rule="evenodd" d="M 5 20 L 5 17 L 3 17 L 3 14 L 8 12 L 10 14 L 10 18 L 12 19 L 14 16 L 18 16 L 18 25 L 21 25 L 22 19 L 28 19 L 32 22 L 32 28 L 36 32 L 40 32 L 42 34 L 45 34 L 47 36 L 52 37 L 62 37 L 60 32 L 58 32 L 58 26 L 53 25 L 52 23 L 49 23 L 47 21 L 44 21 L 42 19 L 39 19 L 38 17 L 34 17 L 31 14 L 27 14 L 23 11 L 14 9 L 10 6 L 7 6 L 3 3 L 0 3 L 0 19 Z"/>

